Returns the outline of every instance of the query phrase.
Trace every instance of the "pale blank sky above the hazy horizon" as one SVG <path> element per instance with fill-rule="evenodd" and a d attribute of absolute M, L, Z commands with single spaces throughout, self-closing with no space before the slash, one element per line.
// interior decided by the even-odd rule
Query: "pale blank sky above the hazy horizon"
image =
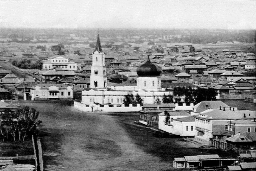
<path fill-rule="evenodd" d="M 256 29 L 256 1 L 0 0 L 0 27 Z"/>

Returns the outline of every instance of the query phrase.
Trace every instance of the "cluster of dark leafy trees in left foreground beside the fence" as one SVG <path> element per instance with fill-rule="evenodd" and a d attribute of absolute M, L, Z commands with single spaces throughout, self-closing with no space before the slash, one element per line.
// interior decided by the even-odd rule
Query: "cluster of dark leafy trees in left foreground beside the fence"
<path fill-rule="evenodd" d="M 37 125 L 42 121 L 38 120 L 39 112 L 25 106 L 17 111 L 6 109 L 0 112 L 0 138 L 3 141 L 24 141 L 36 133 Z"/>

